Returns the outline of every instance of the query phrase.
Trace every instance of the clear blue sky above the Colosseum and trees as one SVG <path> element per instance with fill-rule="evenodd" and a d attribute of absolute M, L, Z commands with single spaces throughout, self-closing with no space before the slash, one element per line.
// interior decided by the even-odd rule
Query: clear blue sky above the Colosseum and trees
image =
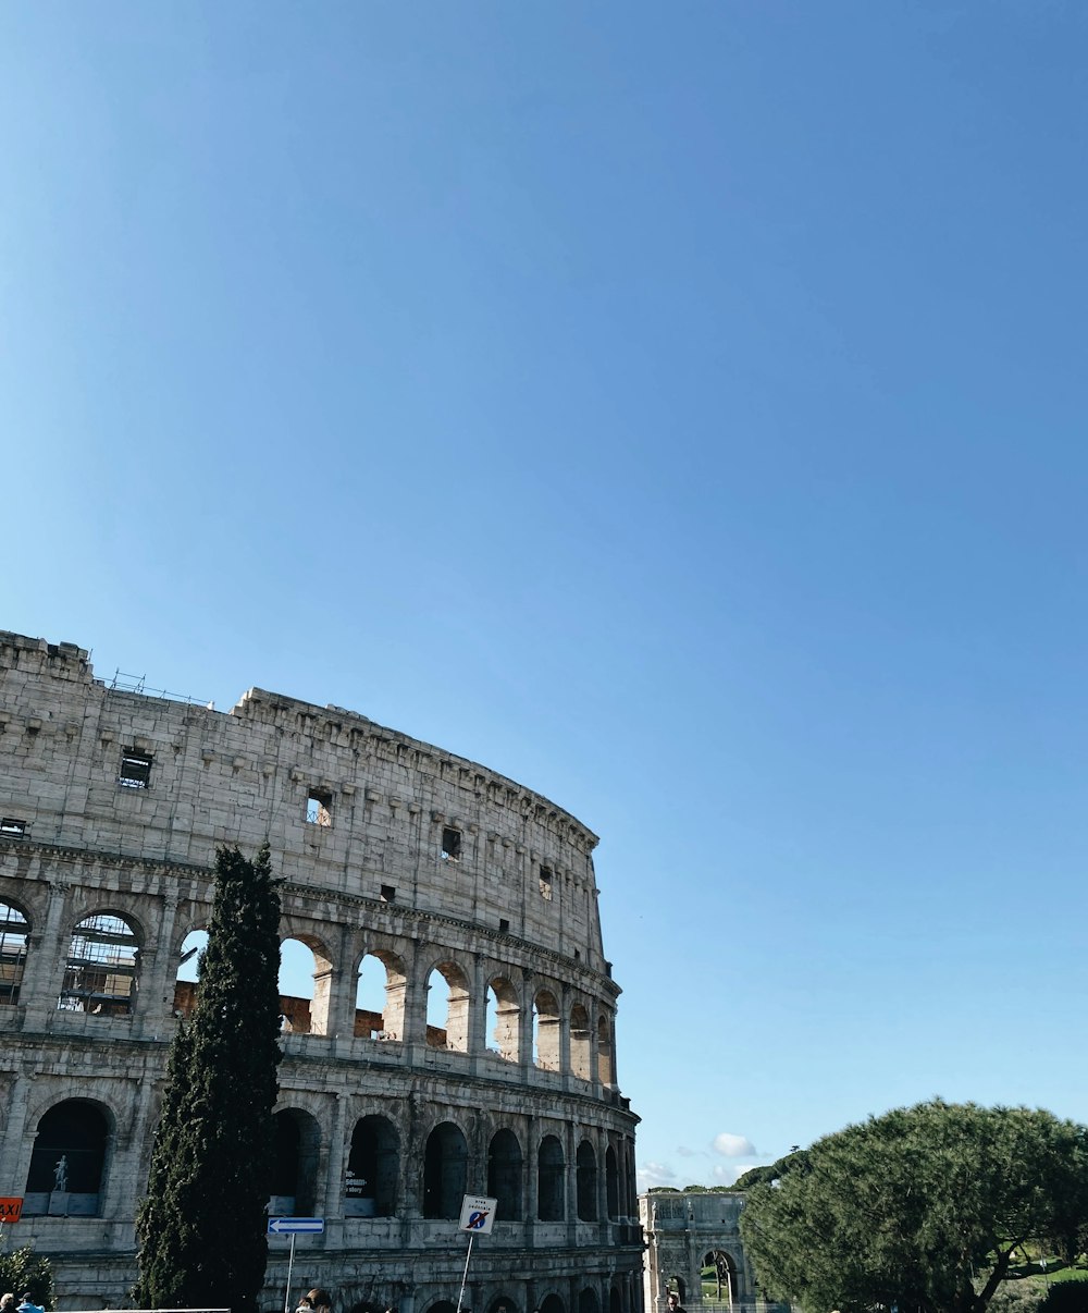
<path fill-rule="evenodd" d="M 1079 0 L 5 5 L 0 625 L 601 834 L 643 1183 L 1088 1120 L 1085 67 Z"/>

